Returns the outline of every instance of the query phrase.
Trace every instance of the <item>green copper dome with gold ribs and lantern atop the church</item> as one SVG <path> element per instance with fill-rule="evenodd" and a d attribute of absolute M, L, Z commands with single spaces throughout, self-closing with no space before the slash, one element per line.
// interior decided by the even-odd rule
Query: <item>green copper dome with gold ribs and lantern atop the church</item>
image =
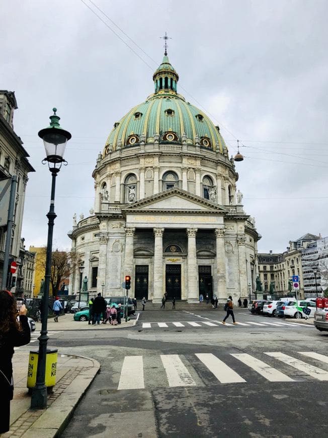
<path fill-rule="evenodd" d="M 219 127 L 177 93 L 179 75 L 167 55 L 153 75 L 155 92 L 133 107 L 110 132 L 103 156 L 140 143 L 187 143 L 227 154 Z"/>

